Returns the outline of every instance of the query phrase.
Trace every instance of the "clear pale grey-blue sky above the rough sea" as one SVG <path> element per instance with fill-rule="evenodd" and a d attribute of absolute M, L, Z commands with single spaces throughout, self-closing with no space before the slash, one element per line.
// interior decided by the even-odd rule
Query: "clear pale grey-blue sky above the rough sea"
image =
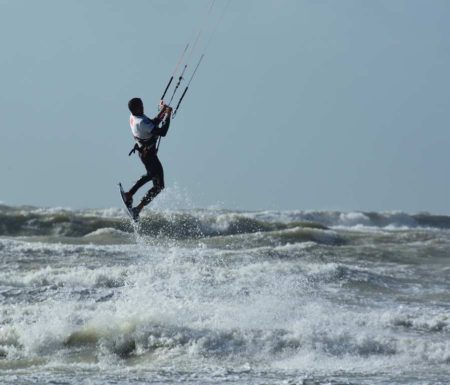
<path fill-rule="evenodd" d="M 230 0 L 220 20 L 227 3 L 150 205 L 450 214 L 450 2 Z M 0 0 L 0 201 L 121 207 L 145 173 L 128 100 L 156 115 L 210 4 Z"/>

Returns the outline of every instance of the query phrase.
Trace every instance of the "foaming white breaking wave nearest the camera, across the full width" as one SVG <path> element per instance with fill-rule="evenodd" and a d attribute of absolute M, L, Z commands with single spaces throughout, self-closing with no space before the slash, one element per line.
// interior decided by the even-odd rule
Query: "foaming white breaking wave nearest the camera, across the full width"
<path fill-rule="evenodd" d="M 75 312 L 75 308 L 71 311 Z M 96 354 L 108 352 L 122 358 L 152 354 L 154 359 L 206 359 L 210 364 L 233 362 L 234 365 L 283 360 L 289 360 L 292 365 L 298 359 L 308 360 L 311 356 L 326 362 L 381 357 L 388 366 L 392 357 L 417 364 L 450 361 L 448 341 L 424 339 L 420 335 L 393 336 L 388 330 L 383 331 L 389 323 L 384 314 L 368 315 L 372 323 L 379 323 L 379 328 L 372 328 L 370 333 L 366 329 L 367 315 L 362 317 L 352 312 L 338 318 L 337 314 L 319 313 L 319 318 L 299 320 L 285 328 L 223 329 L 162 321 L 163 316 L 156 310 L 119 316 L 103 307 L 103 312 L 94 319 L 75 314 L 64 319 L 58 314 L 56 319 L 50 320 L 42 314 L 35 320 L 37 322 L 28 323 L 23 319 L 16 322 L 16 327 L 5 324 L 0 330 L 0 355 L 33 357 L 58 354 L 67 349 L 93 348 Z M 82 325 L 74 324 L 74 320 Z M 56 324 L 58 327 L 49 327 Z M 304 363 L 297 362 L 296 366 L 304 367 Z"/>

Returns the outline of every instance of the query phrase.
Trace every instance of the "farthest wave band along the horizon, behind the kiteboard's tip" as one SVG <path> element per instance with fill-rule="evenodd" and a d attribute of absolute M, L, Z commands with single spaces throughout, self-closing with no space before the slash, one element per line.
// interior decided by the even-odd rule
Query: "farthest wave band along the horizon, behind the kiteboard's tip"
<path fill-rule="evenodd" d="M 101 229 L 166 238 L 204 238 L 248 233 L 270 233 L 295 228 L 327 230 L 348 228 L 450 229 L 450 217 L 403 212 L 233 212 L 227 210 L 144 210 L 134 228 L 122 209 L 40 209 L 0 205 L 0 236 L 86 237 Z M 104 233 L 103 233 L 104 235 Z M 120 236 L 119 233 L 109 236 Z"/>

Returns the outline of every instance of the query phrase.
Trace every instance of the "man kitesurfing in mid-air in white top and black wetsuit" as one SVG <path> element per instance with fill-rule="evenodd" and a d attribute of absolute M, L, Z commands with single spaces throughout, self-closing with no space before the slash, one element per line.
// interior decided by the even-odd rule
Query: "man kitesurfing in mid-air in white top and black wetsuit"
<path fill-rule="evenodd" d="M 156 156 L 156 142 L 160 136 L 166 136 L 167 134 L 172 107 L 163 104 L 161 111 L 153 120 L 144 115 L 144 105 L 142 104 L 142 100 L 140 98 L 131 99 L 128 102 L 128 108 L 131 111 L 131 131 L 137 141 L 131 152 L 136 150 L 139 152 L 139 157 L 147 170 L 147 173 L 142 175 L 133 187 L 125 193 L 125 205 L 131 208 L 134 221 L 139 222 L 140 211 L 144 208 L 144 206 L 147 206 L 164 188 L 164 172 L 162 170 L 161 162 Z M 164 114 L 166 114 L 166 117 L 162 123 L 162 126 L 159 127 Z M 150 180 L 153 181 L 153 187 L 147 191 L 139 204 L 136 207 L 133 207 L 133 195 L 136 194 L 136 191 L 140 187 Z"/>

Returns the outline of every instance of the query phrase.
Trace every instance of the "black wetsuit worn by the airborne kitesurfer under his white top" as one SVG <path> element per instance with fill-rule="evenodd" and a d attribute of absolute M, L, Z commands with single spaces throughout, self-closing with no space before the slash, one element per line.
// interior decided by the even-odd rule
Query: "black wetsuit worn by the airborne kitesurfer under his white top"
<path fill-rule="evenodd" d="M 136 194 L 139 188 L 141 188 L 148 181 L 152 180 L 153 187 L 147 191 L 144 198 L 141 200 L 144 206 L 147 206 L 164 189 L 164 171 L 162 169 L 162 164 L 156 155 L 156 142 L 158 140 L 158 136 L 166 136 L 167 130 L 169 129 L 169 124 L 170 118 L 166 117 L 161 127 L 158 127 L 158 125 L 155 124 L 155 127 L 151 130 L 153 137 L 145 142 L 140 141 L 143 143 L 143 146 L 139 148 L 139 157 L 142 163 L 144 163 L 147 173 L 142 175 L 136 181 L 133 187 L 130 188 L 129 192 L 132 195 Z"/>

